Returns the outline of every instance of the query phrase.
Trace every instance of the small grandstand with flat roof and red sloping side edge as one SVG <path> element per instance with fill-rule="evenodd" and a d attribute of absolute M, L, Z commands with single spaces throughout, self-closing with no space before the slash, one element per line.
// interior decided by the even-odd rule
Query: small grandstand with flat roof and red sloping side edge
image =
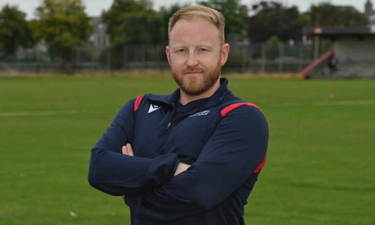
<path fill-rule="evenodd" d="M 303 33 L 332 41 L 332 50 L 302 71 L 304 78 L 375 78 L 375 25 L 307 27 Z"/>

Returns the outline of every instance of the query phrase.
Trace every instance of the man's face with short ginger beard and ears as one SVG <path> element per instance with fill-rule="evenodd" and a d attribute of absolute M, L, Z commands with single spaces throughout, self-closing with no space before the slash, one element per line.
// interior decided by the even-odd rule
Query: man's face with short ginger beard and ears
<path fill-rule="evenodd" d="M 220 32 L 204 19 L 178 20 L 166 48 L 174 80 L 191 96 L 208 91 L 219 82 L 229 45 L 221 46 Z"/>

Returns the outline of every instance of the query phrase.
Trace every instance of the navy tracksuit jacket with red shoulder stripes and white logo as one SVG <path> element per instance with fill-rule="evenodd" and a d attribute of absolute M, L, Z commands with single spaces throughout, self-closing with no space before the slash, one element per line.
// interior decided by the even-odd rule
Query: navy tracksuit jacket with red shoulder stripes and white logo
<path fill-rule="evenodd" d="M 127 102 L 91 151 L 89 183 L 125 195 L 132 225 L 244 225 L 266 160 L 268 124 L 227 79 L 213 96 L 182 105 L 171 95 Z M 122 154 L 131 143 L 134 157 Z M 174 177 L 179 162 L 191 164 Z"/>

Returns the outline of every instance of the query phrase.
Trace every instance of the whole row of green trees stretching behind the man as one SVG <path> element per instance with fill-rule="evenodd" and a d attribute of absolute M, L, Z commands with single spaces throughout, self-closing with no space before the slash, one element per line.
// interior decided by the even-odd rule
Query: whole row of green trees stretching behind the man
<path fill-rule="evenodd" d="M 304 26 L 366 25 L 368 18 L 354 7 L 329 2 L 312 4 L 301 13 L 296 6 L 279 1 L 260 1 L 245 7 L 240 0 L 207 0 L 198 4 L 222 12 L 226 19 L 227 41 L 299 41 Z M 113 0 L 101 16 L 107 26 L 111 47 L 131 44 L 167 44 L 169 17 L 185 5 L 174 4 L 158 11 L 151 0 Z M 75 46 L 87 45 L 94 28 L 84 12 L 82 0 L 43 0 L 35 19 L 17 6 L 5 5 L 0 11 L 0 58 L 11 59 L 19 47 L 42 42 L 53 60 L 67 60 Z"/>

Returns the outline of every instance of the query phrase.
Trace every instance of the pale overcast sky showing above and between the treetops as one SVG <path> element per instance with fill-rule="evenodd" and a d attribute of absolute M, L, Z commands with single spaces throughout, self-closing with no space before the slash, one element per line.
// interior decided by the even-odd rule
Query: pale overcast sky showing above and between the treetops
<path fill-rule="evenodd" d="M 242 4 L 250 6 L 251 4 L 257 3 L 260 0 L 241 0 Z M 285 5 L 298 6 L 301 12 L 306 11 L 311 4 L 316 4 L 322 1 L 329 1 L 334 5 L 352 5 L 360 12 L 364 11 L 364 5 L 366 0 L 276 0 L 284 3 Z M 373 3 L 375 0 L 372 0 Z M 19 9 L 27 14 L 27 19 L 34 17 L 34 11 L 42 0 L 0 0 L 0 7 L 2 8 L 5 4 L 18 5 Z M 112 0 L 83 0 L 86 5 L 86 13 L 89 16 L 99 16 L 103 9 L 108 9 Z M 169 6 L 175 2 L 195 4 L 195 0 L 153 0 L 153 6 L 155 9 L 159 9 L 161 6 Z"/>

